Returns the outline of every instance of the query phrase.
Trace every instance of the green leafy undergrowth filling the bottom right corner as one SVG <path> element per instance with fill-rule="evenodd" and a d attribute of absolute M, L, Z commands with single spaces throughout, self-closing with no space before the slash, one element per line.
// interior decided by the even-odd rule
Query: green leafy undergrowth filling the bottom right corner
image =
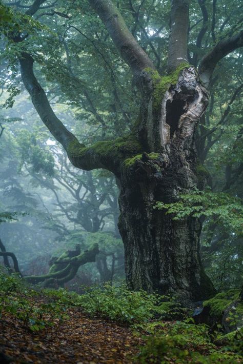
<path fill-rule="evenodd" d="M 230 364 L 241 358 L 238 347 L 235 346 L 238 354 L 233 352 L 233 346 L 217 347 L 209 334 L 209 328 L 206 325 L 194 325 L 192 319 L 176 323 L 157 322 L 150 334 L 145 337 L 146 344 L 140 348 L 136 358 L 139 363 Z"/>

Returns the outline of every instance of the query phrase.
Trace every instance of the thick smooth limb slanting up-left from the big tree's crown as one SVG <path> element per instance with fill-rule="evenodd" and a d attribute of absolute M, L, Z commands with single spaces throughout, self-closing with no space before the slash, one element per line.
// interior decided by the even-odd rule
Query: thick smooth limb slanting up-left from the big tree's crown
<path fill-rule="evenodd" d="M 130 33 L 122 15 L 111 0 L 89 0 L 91 6 L 105 24 L 116 48 L 134 74 L 147 67 L 154 68 L 152 60 Z"/>

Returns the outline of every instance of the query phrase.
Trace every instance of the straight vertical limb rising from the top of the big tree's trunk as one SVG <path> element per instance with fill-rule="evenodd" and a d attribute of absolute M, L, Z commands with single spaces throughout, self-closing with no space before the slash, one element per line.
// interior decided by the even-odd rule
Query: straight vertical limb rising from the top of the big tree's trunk
<path fill-rule="evenodd" d="M 187 37 L 189 27 L 188 0 L 172 0 L 171 31 L 169 38 L 168 72 L 174 71 L 181 63 L 188 62 Z"/>

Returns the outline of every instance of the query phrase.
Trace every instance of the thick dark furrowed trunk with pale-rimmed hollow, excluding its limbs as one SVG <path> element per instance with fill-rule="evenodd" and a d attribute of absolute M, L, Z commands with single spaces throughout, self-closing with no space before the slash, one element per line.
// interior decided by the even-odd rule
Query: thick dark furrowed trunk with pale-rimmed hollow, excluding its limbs
<path fill-rule="evenodd" d="M 159 108 L 153 91 L 147 106 L 145 100 L 141 108 L 142 122 L 136 131 L 148 135 L 150 153 L 125 160 L 119 178 L 119 230 L 128 283 L 132 289 L 177 294 L 184 302 L 214 293 L 199 256 L 201 225 L 190 216 L 173 220 L 173 215 L 154 206 L 157 201 L 173 203 L 178 193 L 204 187 L 195 128 L 207 106 L 207 95 L 193 68 L 183 71 Z M 143 133 L 148 124 L 155 126 L 150 136 Z"/>

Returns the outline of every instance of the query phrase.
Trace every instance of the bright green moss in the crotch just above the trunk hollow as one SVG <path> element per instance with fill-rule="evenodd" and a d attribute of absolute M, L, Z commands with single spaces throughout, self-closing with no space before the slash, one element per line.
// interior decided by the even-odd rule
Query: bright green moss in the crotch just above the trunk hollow
<path fill-rule="evenodd" d="M 174 72 L 168 74 L 167 76 L 161 77 L 158 71 L 152 68 L 145 68 L 144 71 L 148 72 L 153 81 L 154 91 L 153 91 L 153 106 L 157 109 L 161 105 L 161 100 L 163 99 L 166 91 L 170 86 L 175 85 L 178 81 L 180 72 L 190 65 L 188 63 L 181 63 Z"/>

